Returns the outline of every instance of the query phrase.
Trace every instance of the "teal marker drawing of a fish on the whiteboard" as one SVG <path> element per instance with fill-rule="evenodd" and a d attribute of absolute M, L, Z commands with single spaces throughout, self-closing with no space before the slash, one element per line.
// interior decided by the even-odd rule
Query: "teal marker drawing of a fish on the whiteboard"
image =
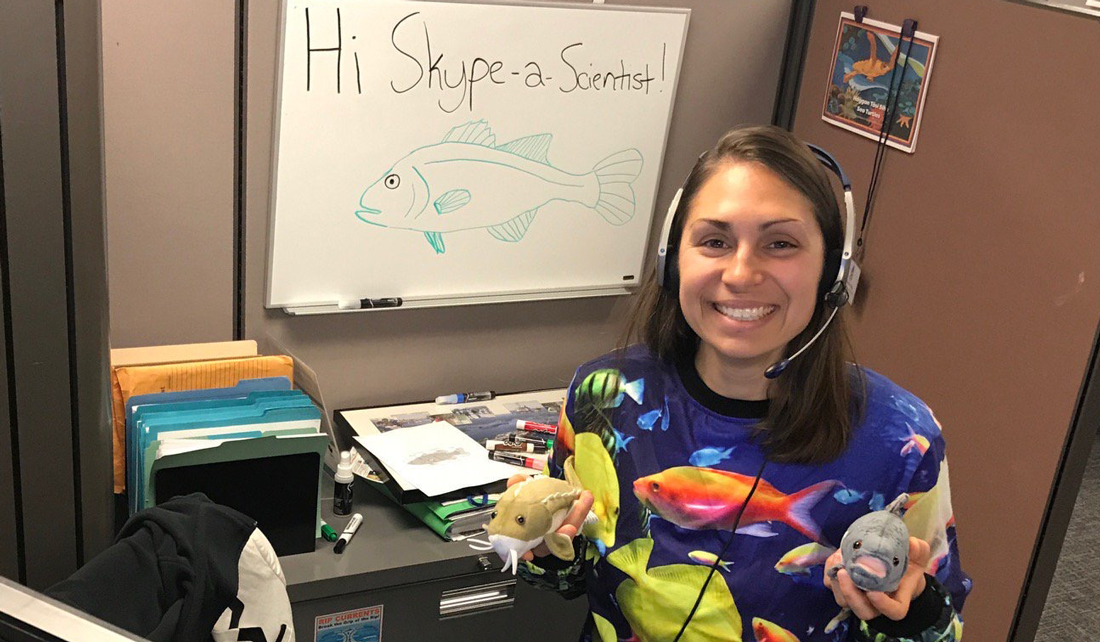
<path fill-rule="evenodd" d="M 433 145 L 418 147 L 363 191 L 364 223 L 422 232 L 437 254 L 443 233 L 484 228 L 494 239 L 524 237 L 542 206 L 561 200 L 596 210 L 623 225 L 634 218 L 631 182 L 641 171 L 638 150 L 612 154 L 591 171 L 571 174 L 550 164 L 551 134 L 502 145 L 484 120 L 457 128 Z"/>

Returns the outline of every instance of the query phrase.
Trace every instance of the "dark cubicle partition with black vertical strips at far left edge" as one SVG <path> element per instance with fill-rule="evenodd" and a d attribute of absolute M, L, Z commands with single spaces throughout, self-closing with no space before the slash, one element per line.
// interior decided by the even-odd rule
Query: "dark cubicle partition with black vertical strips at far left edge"
<path fill-rule="evenodd" d="M 99 2 L 0 18 L 0 574 L 33 588 L 111 539 Z"/>

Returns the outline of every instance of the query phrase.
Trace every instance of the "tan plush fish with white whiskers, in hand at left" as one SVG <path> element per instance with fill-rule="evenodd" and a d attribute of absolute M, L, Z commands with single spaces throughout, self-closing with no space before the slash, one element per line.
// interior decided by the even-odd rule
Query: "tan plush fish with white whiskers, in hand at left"
<path fill-rule="evenodd" d="M 573 468 L 573 457 L 565 460 L 564 468 L 565 479 L 532 477 L 501 495 L 485 530 L 490 547 L 504 562 L 502 573 L 510 567 L 515 575 L 519 556 L 542 542 L 556 557 L 573 558 L 572 540 L 557 531 L 573 502 L 581 497 L 582 488 Z M 585 524 L 595 519 L 590 511 Z"/>

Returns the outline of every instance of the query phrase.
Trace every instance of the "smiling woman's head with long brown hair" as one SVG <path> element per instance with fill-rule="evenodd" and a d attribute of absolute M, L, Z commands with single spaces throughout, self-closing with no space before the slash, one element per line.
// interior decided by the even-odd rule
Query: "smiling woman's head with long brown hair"
<path fill-rule="evenodd" d="M 644 284 L 623 344 L 692 359 L 718 394 L 768 399 L 773 461 L 834 458 L 859 418 L 864 378 L 846 363 L 844 316 L 811 343 L 833 311 L 823 297 L 844 236 L 823 165 L 783 130 L 734 130 L 692 168 L 680 202 L 669 235 L 675 283 Z M 782 377 L 761 377 L 800 347 Z"/>

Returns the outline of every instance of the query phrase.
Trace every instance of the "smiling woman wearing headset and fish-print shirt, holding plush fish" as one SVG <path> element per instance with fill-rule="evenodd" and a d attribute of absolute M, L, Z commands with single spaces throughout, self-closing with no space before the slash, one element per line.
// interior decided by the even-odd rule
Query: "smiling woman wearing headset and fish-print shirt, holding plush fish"
<path fill-rule="evenodd" d="M 574 560 L 535 557 L 521 575 L 587 593 L 583 640 L 961 634 L 970 579 L 939 423 L 846 361 L 844 230 L 821 155 L 777 128 L 723 136 L 671 208 L 662 275 L 623 347 L 573 378 L 548 466 L 574 467 L 598 523 L 566 519 L 559 533 L 584 535 Z M 848 527 L 903 496 L 897 589 L 826 575 Z"/>

